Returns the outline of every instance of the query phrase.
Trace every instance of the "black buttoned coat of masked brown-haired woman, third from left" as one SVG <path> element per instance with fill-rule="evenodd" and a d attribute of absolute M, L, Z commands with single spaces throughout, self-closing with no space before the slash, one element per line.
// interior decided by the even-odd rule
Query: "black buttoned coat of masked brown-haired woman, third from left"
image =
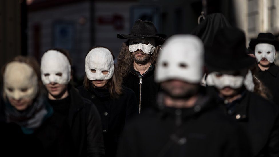
<path fill-rule="evenodd" d="M 125 122 L 138 112 L 135 93 L 123 86 L 123 94 L 112 99 L 107 89 L 93 88 L 92 84 L 89 91 L 84 86 L 78 90 L 81 96 L 90 99 L 96 105 L 101 115 L 105 156 L 115 156 Z"/>

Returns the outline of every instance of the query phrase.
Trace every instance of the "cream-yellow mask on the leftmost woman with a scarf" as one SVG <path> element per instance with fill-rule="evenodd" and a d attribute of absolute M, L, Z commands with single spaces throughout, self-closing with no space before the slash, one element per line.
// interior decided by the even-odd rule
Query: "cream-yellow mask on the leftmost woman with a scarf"
<path fill-rule="evenodd" d="M 30 65 L 13 61 L 4 71 L 4 92 L 15 100 L 33 99 L 38 92 L 38 77 Z"/>

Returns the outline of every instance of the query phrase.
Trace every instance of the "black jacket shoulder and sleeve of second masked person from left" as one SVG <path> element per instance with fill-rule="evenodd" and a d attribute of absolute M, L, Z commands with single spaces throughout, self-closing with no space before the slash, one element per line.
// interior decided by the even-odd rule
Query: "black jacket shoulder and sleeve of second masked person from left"
<path fill-rule="evenodd" d="M 68 124 L 77 150 L 77 156 L 104 156 L 101 118 L 96 106 L 70 87 L 71 104 Z"/>

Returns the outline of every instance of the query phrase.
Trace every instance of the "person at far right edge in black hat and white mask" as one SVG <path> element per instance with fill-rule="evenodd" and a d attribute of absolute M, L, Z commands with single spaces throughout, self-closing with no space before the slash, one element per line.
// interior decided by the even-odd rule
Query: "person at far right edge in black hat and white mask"
<path fill-rule="evenodd" d="M 259 33 L 257 39 L 250 41 L 249 46 L 258 62 L 256 77 L 268 88 L 272 95 L 270 99 L 279 105 L 279 67 L 274 64 L 279 42 L 271 33 Z"/>

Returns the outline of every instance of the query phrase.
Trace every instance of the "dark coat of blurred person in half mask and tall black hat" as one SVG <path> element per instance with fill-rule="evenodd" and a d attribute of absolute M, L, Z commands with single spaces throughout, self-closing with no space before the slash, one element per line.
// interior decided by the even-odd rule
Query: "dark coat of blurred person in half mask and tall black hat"
<path fill-rule="evenodd" d="M 208 90 L 215 93 L 215 96 L 218 95 L 213 87 L 208 87 Z M 216 100 L 225 115 L 235 120 L 246 131 L 253 156 L 279 156 L 277 105 L 247 90 L 236 100 L 235 111 L 228 109 L 222 99 Z"/>

